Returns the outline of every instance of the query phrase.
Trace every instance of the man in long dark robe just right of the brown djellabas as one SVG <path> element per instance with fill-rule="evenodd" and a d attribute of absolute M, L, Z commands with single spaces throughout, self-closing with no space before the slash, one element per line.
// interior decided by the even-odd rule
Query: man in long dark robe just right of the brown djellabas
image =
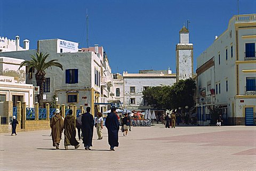
<path fill-rule="evenodd" d="M 83 144 L 85 150 L 91 150 L 92 147 L 92 136 L 93 136 L 93 125 L 94 119 L 90 114 L 91 108 L 86 108 L 86 113 L 82 115 L 82 131 L 83 131 Z"/>

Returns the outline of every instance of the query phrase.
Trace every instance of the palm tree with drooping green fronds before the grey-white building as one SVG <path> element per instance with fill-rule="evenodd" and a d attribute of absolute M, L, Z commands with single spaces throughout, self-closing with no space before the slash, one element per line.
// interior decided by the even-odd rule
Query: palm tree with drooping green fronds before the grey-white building
<path fill-rule="evenodd" d="M 19 69 L 22 66 L 27 66 L 29 70 L 33 69 L 33 67 L 36 69 L 36 86 L 39 86 L 39 95 L 37 95 L 37 101 L 41 107 L 43 107 L 43 84 L 45 82 L 45 70 L 49 67 L 52 69 L 52 66 L 57 66 L 63 71 L 62 65 L 58 62 L 55 62 L 58 61 L 57 59 L 45 62 L 47 57 L 49 57 L 49 54 L 47 53 L 36 53 L 36 57 L 31 55 L 31 61 L 23 61 L 19 67 Z"/>

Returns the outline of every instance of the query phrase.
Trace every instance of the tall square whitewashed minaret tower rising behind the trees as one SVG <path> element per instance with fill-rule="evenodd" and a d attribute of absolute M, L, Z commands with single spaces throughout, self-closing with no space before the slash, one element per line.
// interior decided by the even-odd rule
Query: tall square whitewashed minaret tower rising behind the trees
<path fill-rule="evenodd" d="M 189 44 L 189 31 L 183 25 L 180 30 L 180 43 L 176 45 L 176 82 L 192 78 L 193 44 Z"/>

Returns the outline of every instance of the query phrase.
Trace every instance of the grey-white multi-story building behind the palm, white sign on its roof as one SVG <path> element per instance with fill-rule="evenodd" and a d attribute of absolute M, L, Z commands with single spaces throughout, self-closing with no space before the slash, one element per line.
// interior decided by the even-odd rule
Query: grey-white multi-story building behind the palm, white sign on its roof
<path fill-rule="evenodd" d="M 37 50 L 2 52 L 0 56 L 30 60 L 30 55 L 42 52 L 50 54 L 47 60 L 58 59 L 63 66 L 63 71 L 58 67 L 46 70 L 44 103 L 51 102 L 55 94 L 59 104 L 90 106 L 94 115 L 99 110 L 94 103 L 100 102 L 101 92 L 105 95 L 102 95 L 103 97 L 107 97 L 107 100 L 111 99 L 109 94 L 111 95 L 113 91 L 105 92 L 103 90 L 105 88 L 101 87 L 102 73 L 111 73 L 103 47 L 97 45 L 78 49 L 78 43 L 61 39 L 38 40 L 37 45 Z M 106 82 L 109 84 L 107 90 L 110 90 L 113 81 L 112 83 L 111 79 L 108 81 L 108 74 Z M 27 76 L 27 83 L 36 85 L 34 76 L 32 78 Z M 102 109 L 105 111 L 104 108 Z"/>

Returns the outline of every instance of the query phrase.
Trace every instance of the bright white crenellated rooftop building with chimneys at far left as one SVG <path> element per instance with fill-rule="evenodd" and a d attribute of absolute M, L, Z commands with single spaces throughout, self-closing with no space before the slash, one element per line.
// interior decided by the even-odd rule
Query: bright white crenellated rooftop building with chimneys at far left
<path fill-rule="evenodd" d="M 20 37 L 16 36 L 15 40 L 7 39 L 0 36 L 0 52 L 11 52 L 19 50 L 29 50 L 29 40 L 23 40 L 23 48 L 20 47 Z"/>

